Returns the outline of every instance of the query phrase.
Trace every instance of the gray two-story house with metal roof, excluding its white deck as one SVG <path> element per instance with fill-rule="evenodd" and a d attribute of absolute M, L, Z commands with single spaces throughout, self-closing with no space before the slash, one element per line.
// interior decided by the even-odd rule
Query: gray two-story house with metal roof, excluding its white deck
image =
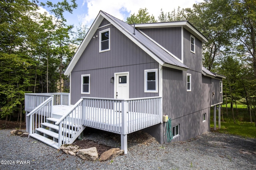
<path fill-rule="evenodd" d="M 160 96 L 162 114 L 177 129 L 173 141 L 210 131 L 210 107 L 222 103 L 224 77 L 202 67 L 206 41 L 188 21 L 134 27 L 100 11 L 65 72 L 71 104 L 81 97 Z M 164 123 L 147 131 L 164 142 Z"/>

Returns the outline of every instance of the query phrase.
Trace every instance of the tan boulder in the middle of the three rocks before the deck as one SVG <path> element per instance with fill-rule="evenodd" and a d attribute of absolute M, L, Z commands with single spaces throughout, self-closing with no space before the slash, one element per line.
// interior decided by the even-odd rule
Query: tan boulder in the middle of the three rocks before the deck
<path fill-rule="evenodd" d="M 95 161 L 96 159 L 98 159 L 98 151 L 97 151 L 96 147 L 92 147 L 92 148 L 88 148 L 88 149 L 80 149 L 76 153 L 76 156 L 78 156 L 79 158 L 82 158 L 84 160 Z"/>

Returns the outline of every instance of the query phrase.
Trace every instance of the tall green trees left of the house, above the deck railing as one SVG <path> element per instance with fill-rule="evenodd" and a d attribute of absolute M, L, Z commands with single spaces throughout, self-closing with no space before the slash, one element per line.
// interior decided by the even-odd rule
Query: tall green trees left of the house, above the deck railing
<path fill-rule="evenodd" d="M 64 12 L 72 13 L 75 0 L 53 4 L 53 15 L 38 12 L 37 1 L 0 2 L 0 115 L 22 111 L 26 92 L 61 92 L 67 62 L 74 55 L 70 46 L 72 25 Z M 47 82 L 45 81 L 47 80 Z M 69 83 L 67 83 L 69 84 Z M 65 86 L 64 86 L 65 88 Z"/>

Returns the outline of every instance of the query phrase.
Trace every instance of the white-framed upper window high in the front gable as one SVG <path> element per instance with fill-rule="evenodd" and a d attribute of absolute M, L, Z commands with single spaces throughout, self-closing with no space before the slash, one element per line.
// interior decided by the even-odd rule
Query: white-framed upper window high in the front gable
<path fill-rule="evenodd" d="M 99 32 L 100 34 L 100 52 L 110 50 L 110 28 Z"/>

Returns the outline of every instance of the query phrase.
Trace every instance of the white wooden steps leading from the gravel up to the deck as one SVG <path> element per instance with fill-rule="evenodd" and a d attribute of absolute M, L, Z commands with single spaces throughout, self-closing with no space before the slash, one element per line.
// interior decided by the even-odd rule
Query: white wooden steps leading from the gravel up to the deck
<path fill-rule="evenodd" d="M 59 149 L 62 144 L 72 144 L 80 134 L 83 132 L 86 126 L 78 125 L 77 118 L 73 118 L 72 121 L 62 121 L 59 125 L 55 125 L 56 122 L 60 121 L 62 115 L 52 113 L 52 117 L 46 118 L 45 122 L 40 123 L 39 127 L 34 129 L 34 133 L 30 134 L 29 137 L 33 137 L 50 145 L 56 149 Z M 72 118 L 70 118 L 72 119 Z M 76 120 L 75 120 L 76 119 Z M 73 123 L 72 123 L 73 122 Z M 66 128 L 64 128 L 66 127 Z M 61 129 L 61 131 L 59 131 Z M 59 139 L 61 133 L 61 139 Z M 60 143 L 59 143 L 60 141 Z"/>

